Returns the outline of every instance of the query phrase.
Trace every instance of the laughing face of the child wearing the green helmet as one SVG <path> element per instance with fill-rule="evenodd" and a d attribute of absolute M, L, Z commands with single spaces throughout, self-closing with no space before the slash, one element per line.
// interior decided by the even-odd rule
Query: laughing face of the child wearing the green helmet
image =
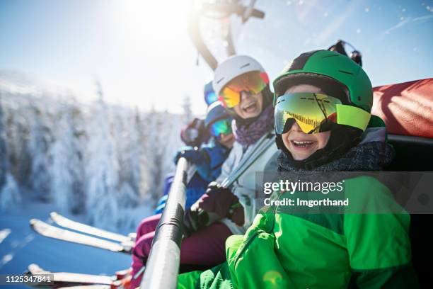
<path fill-rule="evenodd" d="M 321 89 L 316 86 L 299 84 L 287 89 L 285 94 L 294 94 L 296 92 L 322 93 Z M 301 161 L 310 157 L 311 154 L 315 153 L 318 149 L 323 149 L 323 147 L 328 144 L 330 133 L 331 132 L 328 131 L 306 134 L 295 122 L 291 125 L 288 132 L 282 134 L 282 140 L 284 146 L 291 153 L 291 157 L 296 161 Z"/>

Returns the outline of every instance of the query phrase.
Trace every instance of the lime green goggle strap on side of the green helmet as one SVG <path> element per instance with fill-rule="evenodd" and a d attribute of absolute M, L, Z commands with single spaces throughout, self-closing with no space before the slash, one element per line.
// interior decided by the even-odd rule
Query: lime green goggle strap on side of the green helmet
<path fill-rule="evenodd" d="M 337 111 L 337 124 L 339 125 L 350 125 L 362 131 L 365 131 L 367 125 L 369 125 L 371 113 L 367 113 L 361 108 L 336 104 L 335 109 Z"/>

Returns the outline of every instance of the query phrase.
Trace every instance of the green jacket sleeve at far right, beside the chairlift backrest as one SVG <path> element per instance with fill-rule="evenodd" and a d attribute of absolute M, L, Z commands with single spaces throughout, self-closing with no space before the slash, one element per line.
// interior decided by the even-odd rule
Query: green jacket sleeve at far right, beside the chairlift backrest
<path fill-rule="evenodd" d="M 344 218 L 352 285 L 355 288 L 417 288 L 410 262 L 410 215 L 401 208 L 399 212 L 396 210 L 398 205 L 391 192 L 374 178 L 358 178 L 356 182 L 346 183 L 346 189 L 355 196 L 350 200 L 356 200 L 365 210 L 346 214 Z"/>

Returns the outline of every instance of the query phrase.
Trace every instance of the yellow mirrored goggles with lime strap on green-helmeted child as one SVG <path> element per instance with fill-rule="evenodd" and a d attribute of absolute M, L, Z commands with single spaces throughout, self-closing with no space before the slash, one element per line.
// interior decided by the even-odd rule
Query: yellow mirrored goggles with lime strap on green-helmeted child
<path fill-rule="evenodd" d="M 275 105 L 275 131 L 282 134 L 288 120 L 294 120 L 305 133 L 325 132 L 332 123 L 350 125 L 365 131 L 371 114 L 342 104 L 340 99 L 326 94 L 295 93 L 277 98 Z M 286 128 L 289 130 L 290 128 Z"/>

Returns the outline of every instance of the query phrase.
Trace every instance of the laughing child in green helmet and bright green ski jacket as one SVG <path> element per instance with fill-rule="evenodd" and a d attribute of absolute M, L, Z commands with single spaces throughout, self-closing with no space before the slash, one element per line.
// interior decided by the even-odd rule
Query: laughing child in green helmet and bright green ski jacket
<path fill-rule="evenodd" d="M 380 171 L 391 162 L 383 122 L 370 114 L 371 83 L 350 58 L 306 52 L 274 88 L 278 171 Z M 345 181 L 360 207 L 398 207 L 374 178 Z M 245 235 L 227 239 L 226 263 L 181 274 L 178 288 L 416 288 L 409 224 L 404 210 L 308 215 L 265 208 Z"/>

